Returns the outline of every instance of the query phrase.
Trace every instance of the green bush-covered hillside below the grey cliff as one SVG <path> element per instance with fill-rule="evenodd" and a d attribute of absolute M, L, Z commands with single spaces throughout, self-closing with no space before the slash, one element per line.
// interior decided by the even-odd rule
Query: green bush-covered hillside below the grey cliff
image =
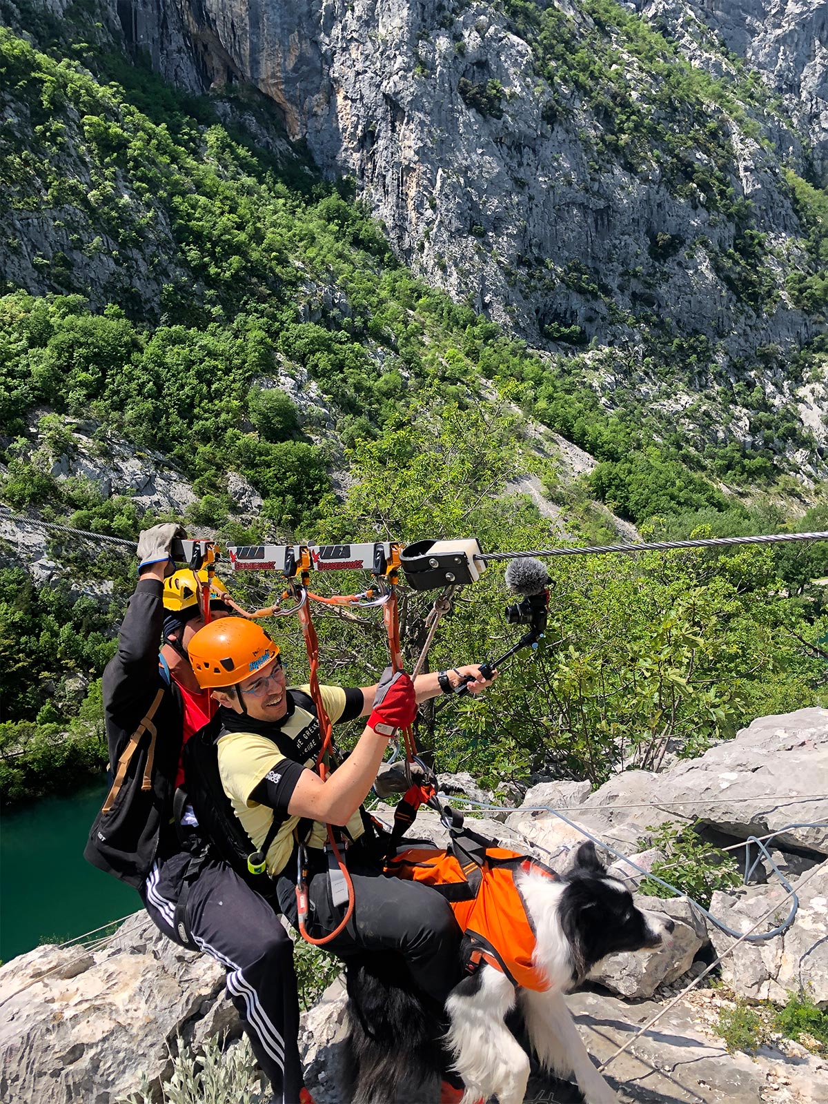
<path fill-rule="evenodd" d="M 132 31 L 157 19 L 155 7 L 141 10 L 144 24 L 127 20 Z M 807 510 L 820 500 L 808 477 L 821 460 L 793 405 L 807 371 L 818 411 L 824 354 L 763 344 L 726 394 L 737 362 L 725 357 L 722 393 L 709 396 L 703 333 L 666 342 L 649 322 L 638 332 L 638 322 L 619 321 L 629 336 L 623 355 L 597 337 L 578 354 L 561 352 L 562 337 L 582 340 L 574 330 L 554 340 L 538 333 L 544 347 L 531 349 L 516 337 L 517 316 L 501 327 L 413 274 L 392 248 L 393 226 L 386 234 L 369 216 L 353 181 L 326 182 L 310 134 L 294 140 L 273 96 L 241 79 L 209 95 L 195 95 L 198 82 L 192 93 L 173 88 L 141 56 L 131 63 L 120 52 L 119 20 L 92 0 L 0 0 L 0 11 L 12 28 L 0 29 L 0 501 L 11 510 L 121 538 L 183 512 L 191 528 L 243 542 L 265 532 L 325 542 L 474 533 L 490 550 L 546 548 L 564 535 L 615 541 L 607 508 L 659 533 L 828 528 L 822 507 Z M 510 18 L 556 19 L 554 11 L 516 9 Z M 163 57 L 156 51 L 159 66 L 173 31 Z M 202 35 L 201 62 L 190 70 L 178 41 L 180 79 L 203 84 L 215 36 Z M 295 44 L 291 65 L 301 56 Z M 645 47 L 667 49 L 660 39 L 641 40 Z M 310 79 L 312 66 L 301 72 Z M 680 65 L 676 72 L 690 81 Z M 422 74 L 403 84 L 431 87 Z M 479 86 L 464 85 L 465 95 L 491 106 Z M 485 93 L 500 96 L 488 78 Z M 465 100 L 463 112 L 475 134 L 507 117 L 506 106 L 485 118 Z M 457 135 L 467 138 L 466 115 Z M 606 141 L 616 131 L 606 129 Z M 423 164 L 427 156 L 421 149 Z M 616 174 L 633 172 L 623 150 L 605 146 L 601 156 L 618 159 Z M 703 179 L 722 203 L 739 202 L 716 172 Z M 820 192 L 800 180 L 792 187 L 819 212 Z M 510 189 L 492 203 L 509 208 Z M 367 188 L 362 194 L 370 199 Z M 670 202 L 696 210 L 688 198 Z M 439 215 L 436 199 L 426 208 L 429 219 Z M 625 212 L 635 209 L 613 217 Z M 716 217 L 724 226 L 731 213 Z M 565 225 L 549 221 L 561 233 Z M 602 248 L 619 226 L 607 224 Z M 458 264 L 477 264 L 471 240 L 484 241 L 477 232 L 457 238 Z M 652 248 L 670 252 L 658 238 Z M 429 254 L 417 256 L 425 265 Z M 786 283 L 782 267 L 774 272 Z M 569 265 L 566 301 L 603 304 L 607 317 L 611 306 L 622 310 L 615 291 L 594 291 L 593 278 Z M 550 288 L 564 295 L 558 283 Z M 539 302 L 541 290 L 532 291 Z M 774 310 L 811 326 L 792 295 L 786 286 Z M 732 296 L 723 302 L 735 309 Z M 680 296 L 677 305 L 683 309 Z M 754 326 L 745 314 L 742 332 L 758 333 L 773 317 Z M 687 390 L 691 379 L 701 392 Z M 750 447 L 731 439 L 736 429 Z M 789 512 L 804 514 L 798 521 L 779 509 L 782 490 Z M 134 574 L 120 553 L 89 539 L 0 523 L 0 788 L 21 796 L 44 778 L 70 777 L 67 747 L 77 749 L 76 767 L 100 755 L 96 677 Z M 39 593 L 29 561 L 49 584 Z M 802 546 L 722 560 L 558 563 L 554 617 L 537 662 L 512 668 L 488 699 L 490 713 L 460 707 L 424 719 L 427 742 L 446 765 L 473 763 L 484 774 L 523 775 L 548 763 L 599 782 L 618 741 L 648 755 L 671 740 L 692 752 L 755 715 L 818 700 L 828 626 L 811 581 L 826 574 L 822 553 Z M 511 639 L 498 580 L 487 573 L 446 619 L 435 664 L 482 658 Z M 251 604 L 272 597 L 272 588 L 254 591 Z M 429 604 L 407 608 L 412 652 Z M 322 629 L 338 679 L 360 681 L 384 666 L 370 620 L 327 615 Z M 279 633 L 300 669 L 296 626 Z"/>

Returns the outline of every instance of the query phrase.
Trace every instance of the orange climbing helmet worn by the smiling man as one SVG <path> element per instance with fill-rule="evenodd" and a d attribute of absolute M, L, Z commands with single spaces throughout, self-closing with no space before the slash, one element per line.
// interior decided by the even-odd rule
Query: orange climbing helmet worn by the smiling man
<path fill-rule="evenodd" d="M 262 626 L 243 617 L 223 617 L 200 628 L 187 651 L 202 690 L 235 686 L 279 654 Z"/>

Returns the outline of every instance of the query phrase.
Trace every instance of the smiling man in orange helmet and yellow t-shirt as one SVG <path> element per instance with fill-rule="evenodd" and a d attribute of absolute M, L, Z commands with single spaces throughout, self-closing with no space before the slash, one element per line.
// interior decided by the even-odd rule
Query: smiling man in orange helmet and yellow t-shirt
<path fill-rule="evenodd" d="M 459 980 L 459 928 L 439 893 L 382 877 L 361 803 L 389 740 L 413 722 L 417 702 L 452 689 L 465 675 L 473 677 L 473 693 L 490 680 L 479 667 L 467 666 L 450 676 L 421 675 L 415 682 L 386 669 L 376 686 L 320 687 L 332 723 L 368 716 L 353 751 L 322 779 L 314 769 L 321 732 L 309 687 L 286 686 L 279 649 L 261 626 L 237 618 L 208 625 L 193 636 L 188 651 L 199 684 L 212 690 L 220 704 L 216 750 L 224 792 L 264 857 L 285 914 L 296 922 L 296 860 L 304 846 L 309 934 L 320 938 L 340 926 L 347 894 L 340 892 L 327 846 L 327 826 L 338 826 L 348 843 L 354 906 L 328 948 L 343 958 L 364 951 L 399 952 L 439 1021 L 445 998 Z"/>

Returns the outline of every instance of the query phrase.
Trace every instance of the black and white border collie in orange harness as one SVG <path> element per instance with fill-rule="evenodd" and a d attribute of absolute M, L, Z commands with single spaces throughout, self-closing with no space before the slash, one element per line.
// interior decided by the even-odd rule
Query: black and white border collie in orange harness
<path fill-rule="evenodd" d="M 466 1086 L 463 1104 L 492 1095 L 499 1104 L 521 1104 L 529 1057 L 507 1027 L 507 1017 L 516 1011 L 544 1070 L 574 1074 L 586 1104 L 617 1104 L 590 1059 L 564 994 L 607 955 L 667 945 L 673 923 L 637 909 L 629 891 L 607 874 L 592 842 L 578 847 L 560 881 L 530 871 L 518 875 L 518 888 L 535 932 L 533 965 L 545 975 L 549 989 L 516 988 L 499 969 L 484 964 L 449 995 L 448 1031 L 440 1038 L 434 1016 L 406 987 L 406 972 L 393 956 L 352 964 L 341 1086 L 350 1104 L 436 1102 L 440 1045 Z"/>

